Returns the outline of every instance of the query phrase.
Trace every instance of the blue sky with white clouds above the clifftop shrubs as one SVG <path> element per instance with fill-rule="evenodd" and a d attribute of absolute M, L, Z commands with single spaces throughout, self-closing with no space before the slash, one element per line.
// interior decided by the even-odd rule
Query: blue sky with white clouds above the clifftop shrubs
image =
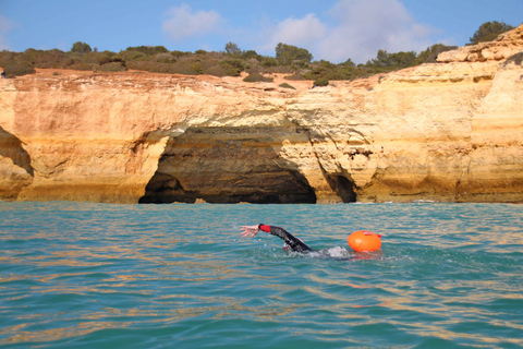
<path fill-rule="evenodd" d="M 278 43 L 315 60 L 364 63 L 378 49 L 463 46 L 482 23 L 523 23 L 523 0 L 0 0 L 0 49 L 243 50 L 275 56 Z"/>

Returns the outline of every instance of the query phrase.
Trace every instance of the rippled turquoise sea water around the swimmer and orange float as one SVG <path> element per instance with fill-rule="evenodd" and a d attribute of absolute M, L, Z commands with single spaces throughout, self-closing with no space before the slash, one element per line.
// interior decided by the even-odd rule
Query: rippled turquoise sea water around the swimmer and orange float
<path fill-rule="evenodd" d="M 2 348 L 522 348 L 523 206 L 0 203 Z M 380 233 L 351 261 L 287 253 Z"/>

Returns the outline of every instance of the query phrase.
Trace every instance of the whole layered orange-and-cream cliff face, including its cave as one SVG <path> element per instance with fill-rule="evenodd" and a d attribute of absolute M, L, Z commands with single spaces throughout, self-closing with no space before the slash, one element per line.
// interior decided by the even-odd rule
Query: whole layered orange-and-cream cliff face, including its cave
<path fill-rule="evenodd" d="M 522 41 L 520 26 L 489 46 L 502 55 L 469 47 L 296 91 L 138 72 L 1 80 L 0 198 L 523 202 Z"/>

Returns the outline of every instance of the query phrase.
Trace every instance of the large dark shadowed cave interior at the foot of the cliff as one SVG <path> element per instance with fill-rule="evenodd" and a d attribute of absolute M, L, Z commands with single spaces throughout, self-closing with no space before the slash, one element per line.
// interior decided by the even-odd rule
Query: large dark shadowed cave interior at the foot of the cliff
<path fill-rule="evenodd" d="M 282 142 L 304 130 L 192 128 L 168 142 L 139 203 L 316 203 L 297 165 L 283 159 Z"/>

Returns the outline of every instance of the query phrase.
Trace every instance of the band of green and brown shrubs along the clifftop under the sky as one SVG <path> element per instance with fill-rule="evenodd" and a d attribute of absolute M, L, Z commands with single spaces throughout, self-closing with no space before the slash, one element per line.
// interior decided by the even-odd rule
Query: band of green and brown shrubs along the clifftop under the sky
<path fill-rule="evenodd" d="M 476 31 L 471 43 L 491 40 L 497 35 L 513 28 L 499 22 L 487 22 Z M 70 51 L 59 49 L 24 52 L 3 50 L 0 52 L 0 67 L 8 77 L 35 72 L 35 68 L 90 70 L 118 72 L 141 70 L 154 73 L 178 73 L 186 75 L 209 74 L 215 76 L 240 76 L 248 73 L 245 81 L 270 81 L 264 75 L 289 74 L 289 80 L 312 80 L 320 83 L 330 80 L 353 80 L 379 73 L 387 73 L 427 62 L 436 62 L 439 53 L 455 47 L 436 44 L 416 53 L 387 52 L 378 50 L 376 58 L 365 64 L 354 64 L 351 59 L 335 64 L 329 61 L 313 61 L 313 55 L 304 48 L 283 43 L 276 47 L 276 56 L 258 55 L 254 50 L 244 51 L 234 43 L 228 43 L 221 52 L 197 50 L 195 52 L 169 51 L 163 46 L 127 47 L 120 52 L 93 49 L 86 43 L 74 43 Z"/>

